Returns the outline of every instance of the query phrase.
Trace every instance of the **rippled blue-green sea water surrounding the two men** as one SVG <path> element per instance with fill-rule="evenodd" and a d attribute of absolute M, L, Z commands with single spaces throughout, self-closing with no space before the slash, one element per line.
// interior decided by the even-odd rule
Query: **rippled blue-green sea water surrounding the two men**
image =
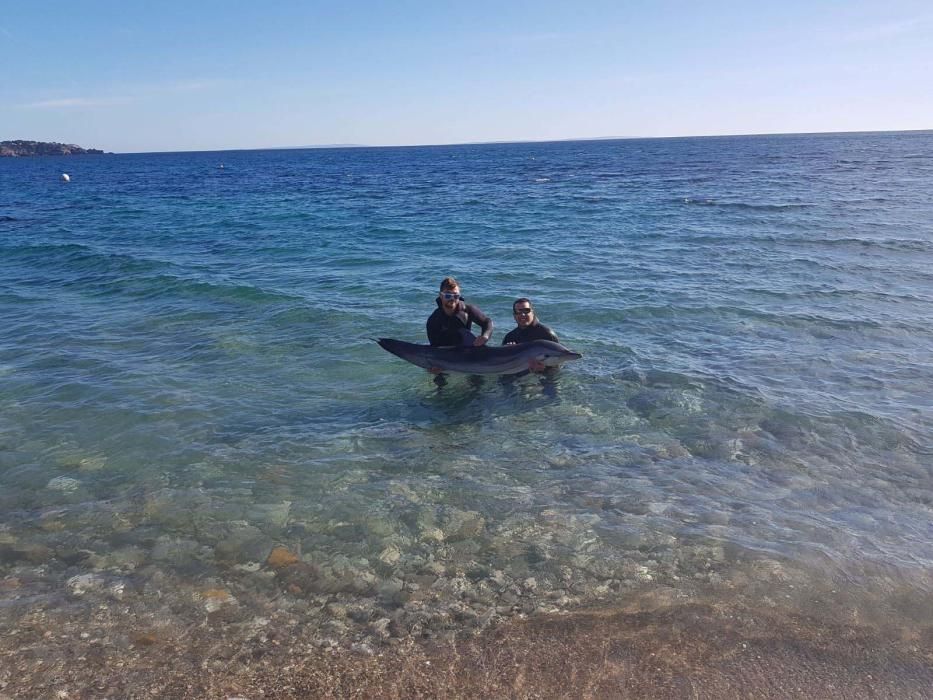
<path fill-rule="evenodd" d="M 928 132 L 0 159 L 0 627 L 929 625 L 931 183 Z M 372 339 L 446 275 L 584 358 L 438 387 Z"/>

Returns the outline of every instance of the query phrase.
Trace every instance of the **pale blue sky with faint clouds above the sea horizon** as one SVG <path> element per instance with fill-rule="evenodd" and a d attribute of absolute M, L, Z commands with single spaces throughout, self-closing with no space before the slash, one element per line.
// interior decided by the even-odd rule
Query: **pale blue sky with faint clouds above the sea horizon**
<path fill-rule="evenodd" d="M 931 128 L 930 0 L 0 0 L 0 140 L 148 152 Z"/>

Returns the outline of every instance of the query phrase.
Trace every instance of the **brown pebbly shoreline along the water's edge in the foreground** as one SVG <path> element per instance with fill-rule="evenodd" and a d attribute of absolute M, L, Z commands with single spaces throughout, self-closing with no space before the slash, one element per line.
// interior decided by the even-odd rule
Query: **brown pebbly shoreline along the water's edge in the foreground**
<path fill-rule="evenodd" d="M 300 627 L 244 634 L 222 614 L 178 638 L 165 630 L 122 640 L 97 636 L 104 628 L 75 634 L 66 620 L 42 631 L 56 621 L 40 615 L 0 637 L 0 698 L 907 700 L 933 687 L 933 627 L 899 632 L 656 593 L 444 641 L 329 649 L 309 644 Z"/>

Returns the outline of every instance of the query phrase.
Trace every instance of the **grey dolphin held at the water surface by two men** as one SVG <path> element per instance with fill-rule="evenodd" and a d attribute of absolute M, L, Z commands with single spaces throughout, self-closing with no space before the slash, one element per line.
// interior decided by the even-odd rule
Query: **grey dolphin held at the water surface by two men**
<path fill-rule="evenodd" d="M 547 367 L 557 367 L 569 360 L 579 360 L 583 357 L 580 353 L 550 340 L 532 340 L 530 343 L 494 347 L 484 345 L 479 348 L 432 347 L 392 338 L 379 338 L 376 342 L 383 350 L 413 365 L 464 374 L 518 374 L 528 370 L 531 360 L 543 362 Z"/>

